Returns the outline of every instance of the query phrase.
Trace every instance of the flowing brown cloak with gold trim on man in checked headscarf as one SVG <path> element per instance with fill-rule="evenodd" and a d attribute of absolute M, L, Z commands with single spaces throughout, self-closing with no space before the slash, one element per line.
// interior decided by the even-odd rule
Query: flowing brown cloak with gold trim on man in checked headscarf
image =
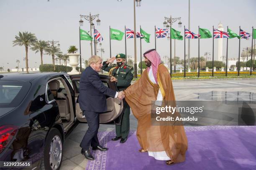
<path fill-rule="evenodd" d="M 125 100 L 131 107 L 134 117 L 138 119 L 138 142 L 143 150 L 165 151 L 173 162 L 183 162 L 187 151 L 187 136 L 183 125 L 173 125 L 170 122 L 161 122 L 161 125 L 151 124 L 155 121 L 155 118 L 151 117 L 151 103 L 156 100 L 159 90 L 163 95 L 162 107 L 176 106 L 170 74 L 163 64 L 158 67 L 157 80 L 158 84 L 152 83 L 145 70 L 141 78 L 125 90 Z M 167 116 L 176 117 L 179 113 Z"/>

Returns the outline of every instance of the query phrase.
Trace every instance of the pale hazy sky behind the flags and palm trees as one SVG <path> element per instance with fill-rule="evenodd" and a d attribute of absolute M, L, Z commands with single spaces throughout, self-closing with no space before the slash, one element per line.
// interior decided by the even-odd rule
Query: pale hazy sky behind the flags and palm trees
<path fill-rule="evenodd" d="M 213 3 L 214 2 L 214 3 Z M 224 30 L 229 26 L 238 33 L 238 27 L 251 33 L 251 27 L 256 27 L 256 1 L 255 0 L 191 0 L 190 2 L 190 30 L 197 33 L 198 25 L 202 28 L 212 29 L 212 25 L 223 24 Z M 101 25 L 95 27 L 100 31 L 104 40 L 102 48 L 105 53 L 103 58 L 110 57 L 109 50 L 109 25 L 111 28 L 124 31 L 124 26 L 133 29 L 133 1 L 122 0 L 1 0 L 0 1 L 0 47 L 2 55 L 0 66 L 14 68 L 15 60 L 21 61 L 24 66 L 25 48 L 14 46 L 12 41 L 19 31 L 28 31 L 36 34 L 40 40 L 59 41 L 61 51 L 67 53 L 70 45 L 79 48 L 79 15 L 100 14 Z M 151 34 L 151 43 L 142 41 L 142 53 L 154 48 L 154 25 L 163 27 L 164 17 L 181 17 L 182 28 L 178 22 L 173 28 L 182 32 L 183 26 L 188 27 L 188 0 L 142 0 L 141 7 L 136 7 L 136 30 L 139 26 Z M 96 20 L 94 21 L 96 25 Z M 89 23 L 84 20 L 83 30 L 89 30 Z M 111 41 L 112 56 L 125 53 L 124 39 Z M 190 41 L 190 57 L 198 56 L 198 41 Z M 215 57 L 217 57 L 218 41 L 215 40 Z M 133 39 L 127 40 L 127 54 L 134 56 Z M 251 41 L 241 40 L 241 49 L 251 46 Z M 90 57 L 90 41 L 82 41 L 82 58 Z M 174 43 L 173 43 L 174 48 Z M 169 41 L 167 38 L 157 39 L 157 51 L 162 56 L 169 56 Z M 173 50 L 174 51 L 174 50 Z M 212 39 L 200 41 L 200 56 L 208 51 L 212 53 Z M 223 55 L 226 53 L 226 40 L 223 40 Z M 238 56 L 238 39 L 229 41 L 229 57 Z M 174 55 L 174 53 L 173 53 Z M 137 57 L 140 56 L 139 39 L 137 38 Z M 184 58 L 184 41 L 176 41 L 176 56 Z M 40 53 L 28 51 L 29 67 L 39 66 Z M 35 64 L 36 62 L 36 64 Z M 9 63 L 7 65 L 7 63 Z M 44 63 L 51 63 L 51 57 L 44 55 Z"/>

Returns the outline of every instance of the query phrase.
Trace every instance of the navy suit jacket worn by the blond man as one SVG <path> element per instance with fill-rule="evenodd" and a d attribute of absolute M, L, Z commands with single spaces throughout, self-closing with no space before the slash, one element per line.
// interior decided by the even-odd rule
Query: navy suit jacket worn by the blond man
<path fill-rule="evenodd" d="M 115 94 L 116 91 L 102 84 L 99 74 L 91 66 L 83 71 L 80 78 L 78 98 L 81 110 L 106 112 L 107 101 L 105 95 L 114 98 Z"/>

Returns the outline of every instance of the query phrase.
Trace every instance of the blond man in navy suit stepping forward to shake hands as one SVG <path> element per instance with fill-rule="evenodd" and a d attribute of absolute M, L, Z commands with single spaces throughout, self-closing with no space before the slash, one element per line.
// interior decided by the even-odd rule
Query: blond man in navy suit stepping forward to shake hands
<path fill-rule="evenodd" d="M 92 150 L 106 151 L 108 148 L 99 145 L 97 137 L 100 119 L 99 114 L 107 111 L 106 96 L 123 99 L 123 91 L 114 91 L 102 84 L 98 72 L 102 68 L 102 59 L 99 56 L 91 56 L 89 65 L 82 73 L 79 89 L 79 106 L 87 119 L 88 129 L 80 143 L 81 153 L 85 158 L 94 160 L 90 153 Z"/>

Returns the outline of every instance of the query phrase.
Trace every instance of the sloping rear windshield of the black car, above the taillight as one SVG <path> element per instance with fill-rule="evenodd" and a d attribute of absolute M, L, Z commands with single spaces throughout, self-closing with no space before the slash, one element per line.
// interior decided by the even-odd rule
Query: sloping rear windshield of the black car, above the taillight
<path fill-rule="evenodd" d="M 17 107 L 30 86 L 30 83 L 24 81 L 0 81 L 0 108 Z"/>

